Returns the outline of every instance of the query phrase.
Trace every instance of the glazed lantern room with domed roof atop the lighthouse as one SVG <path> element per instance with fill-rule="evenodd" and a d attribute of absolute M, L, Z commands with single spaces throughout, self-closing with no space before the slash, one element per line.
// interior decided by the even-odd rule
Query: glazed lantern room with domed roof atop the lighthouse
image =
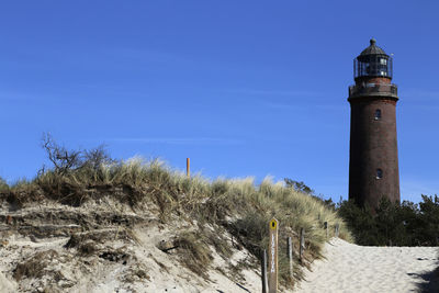
<path fill-rule="evenodd" d="M 372 38 L 370 46 L 353 59 L 353 78 L 356 81 L 372 77 L 392 79 L 392 57 L 385 54 L 375 43 L 376 41 Z"/>

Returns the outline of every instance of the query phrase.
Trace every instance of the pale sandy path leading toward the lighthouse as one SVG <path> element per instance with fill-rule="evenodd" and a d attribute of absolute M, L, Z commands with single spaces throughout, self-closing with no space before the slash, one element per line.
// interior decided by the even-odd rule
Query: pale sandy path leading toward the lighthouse
<path fill-rule="evenodd" d="M 364 247 L 334 239 L 294 292 L 418 292 L 438 247 Z M 434 292 L 434 291 L 431 291 Z M 439 292 L 439 291 L 436 291 Z"/>

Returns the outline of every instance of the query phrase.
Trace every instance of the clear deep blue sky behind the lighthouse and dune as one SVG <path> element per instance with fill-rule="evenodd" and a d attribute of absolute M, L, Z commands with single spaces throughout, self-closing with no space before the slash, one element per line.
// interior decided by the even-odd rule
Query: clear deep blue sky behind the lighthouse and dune
<path fill-rule="evenodd" d="M 394 54 L 402 200 L 439 192 L 437 1 L 2 1 L 0 177 L 68 148 L 347 199 L 352 59 Z"/>

